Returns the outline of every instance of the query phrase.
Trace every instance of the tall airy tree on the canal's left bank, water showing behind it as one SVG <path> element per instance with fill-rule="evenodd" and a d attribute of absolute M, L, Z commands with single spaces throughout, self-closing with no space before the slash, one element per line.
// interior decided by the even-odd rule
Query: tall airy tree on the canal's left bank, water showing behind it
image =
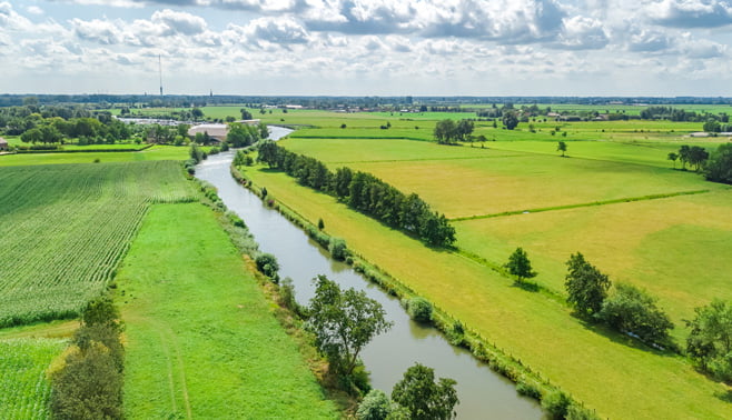
<path fill-rule="evenodd" d="M 364 291 L 343 291 L 325 276 L 313 281 L 315 297 L 310 299 L 306 328 L 315 334 L 316 347 L 334 370 L 350 376 L 363 348 L 393 323 L 386 320 L 382 304 L 366 297 Z"/>

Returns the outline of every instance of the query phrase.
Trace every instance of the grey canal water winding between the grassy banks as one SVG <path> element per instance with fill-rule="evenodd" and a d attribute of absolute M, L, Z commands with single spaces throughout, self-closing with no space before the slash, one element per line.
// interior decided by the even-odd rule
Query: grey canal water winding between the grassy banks
<path fill-rule="evenodd" d="M 270 127 L 270 138 L 279 139 L 290 130 Z M 196 177 L 212 183 L 229 208 L 249 227 L 264 252 L 277 257 L 280 277 L 289 277 L 299 303 L 314 296 L 311 279 L 325 274 L 342 288 L 364 290 L 377 300 L 394 327 L 376 337 L 362 352 L 372 386 L 390 394 L 394 384 L 415 362 L 431 367 L 437 378 L 457 381 L 458 419 L 541 419 L 538 403 L 516 393 L 514 384 L 468 351 L 455 348 L 434 328 L 418 324 L 408 317 L 399 301 L 356 273 L 349 266 L 330 259 L 308 236 L 276 210 L 239 186 L 229 172 L 234 151 L 209 157 L 196 168 Z"/>

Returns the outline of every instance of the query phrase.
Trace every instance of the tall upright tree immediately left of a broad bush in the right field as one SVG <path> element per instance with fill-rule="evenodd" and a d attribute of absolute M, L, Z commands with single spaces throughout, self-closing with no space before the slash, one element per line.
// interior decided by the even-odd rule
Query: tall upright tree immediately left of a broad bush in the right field
<path fill-rule="evenodd" d="M 567 274 L 564 286 L 567 291 L 567 302 L 582 317 L 600 312 L 611 284 L 607 276 L 587 262 L 580 252 L 572 254 L 566 264 Z"/>

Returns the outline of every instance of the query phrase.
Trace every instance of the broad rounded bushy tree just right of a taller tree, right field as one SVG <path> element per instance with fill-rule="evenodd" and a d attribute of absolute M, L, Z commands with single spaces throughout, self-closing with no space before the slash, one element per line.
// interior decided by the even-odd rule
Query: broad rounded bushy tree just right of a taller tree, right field
<path fill-rule="evenodd" d="M 619 283 L 614 293 L 603 301 L 597 318 L 613 329 L 635 334 L 645 342 L 663 342 L 669 338 L 673 323 L 656 301 L 642 289 Z"/>

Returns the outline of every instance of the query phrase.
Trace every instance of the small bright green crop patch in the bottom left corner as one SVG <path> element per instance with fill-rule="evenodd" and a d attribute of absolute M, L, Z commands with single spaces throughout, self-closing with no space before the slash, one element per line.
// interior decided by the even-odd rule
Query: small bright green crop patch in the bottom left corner
<path fill-rule="evenodd" d="M 0 417 L 48 419 L 51 386 L 46 369 L 66 342 L 49 339 L 0 340 Z"/>

